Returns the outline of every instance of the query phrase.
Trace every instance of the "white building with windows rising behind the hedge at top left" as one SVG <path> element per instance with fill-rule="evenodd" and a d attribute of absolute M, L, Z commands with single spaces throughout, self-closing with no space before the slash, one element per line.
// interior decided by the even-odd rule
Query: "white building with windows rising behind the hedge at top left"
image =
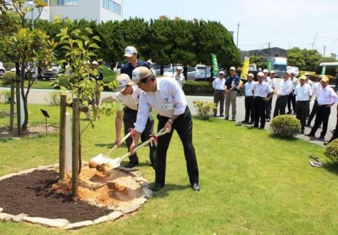
<path fill-rule="evenodd" d="M 27 1 L 30 7 L 33 4 Z M 72 20 L 85 19 L 97 23 L 106 21 L 122 21 L 123 0 L 45 0 L 49 5 L 44 8 L 40 19 L 52 22 L 54 17 L 62 15 Z M 37 17 L 37 10 L 33 10 L 33 17 Z M 29 18 L 29 15 L 27 16 Z"/>

